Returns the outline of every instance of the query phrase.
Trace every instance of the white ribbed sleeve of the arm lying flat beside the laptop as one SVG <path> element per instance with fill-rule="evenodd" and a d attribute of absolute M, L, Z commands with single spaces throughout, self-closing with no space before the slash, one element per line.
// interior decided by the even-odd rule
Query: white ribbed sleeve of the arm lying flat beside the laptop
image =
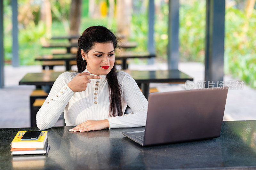
<path fill-rule="evenodd" d="M 124 72 L 125 73 L 125 72 Z M 132 109 L 132 113 L 108 118 L 109 128 L 132 128 L 146 125 L 148 101 L 140 91 L 135 80 L 125 73 L 122 82 L 124 101 Z"/>

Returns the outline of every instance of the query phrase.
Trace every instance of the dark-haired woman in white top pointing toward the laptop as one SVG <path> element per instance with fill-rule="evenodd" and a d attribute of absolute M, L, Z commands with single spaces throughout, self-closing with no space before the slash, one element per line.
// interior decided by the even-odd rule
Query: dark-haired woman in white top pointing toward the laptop
<path fill-rule="evenodd" d="M 64 72 L 56 79 L 36 114 L 37 127 L 51 128 L 62 111 L 75 132 L 145 126 L 148 101 L 130 74 L 116 72 L 115 35 L 93 26 L 84 30 L 77 44 L 78 73 Z M 127 105 L 133 112 L 124 115 Z"/>

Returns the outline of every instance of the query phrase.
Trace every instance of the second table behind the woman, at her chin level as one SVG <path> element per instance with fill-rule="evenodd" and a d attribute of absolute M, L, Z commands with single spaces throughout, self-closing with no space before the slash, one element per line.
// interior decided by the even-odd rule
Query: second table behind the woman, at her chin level
<path fill-rule="evenodd" d="M 122 60 L 122 69 L 127 69 L 127 59 L 128 58 L 152 58 L 156 57 L 155 54 L 150 54 L 149 52 L 132 52 L 124 51 L 122 53 L 116 53 L 115 59 Z M 76 54 L 66 53 L 66 54 L 50 54 L 36 57 L 35 60 L 38 61 L 65 61 L 66 71 L 71 69 L 70 61 L 76 60 Z"/>

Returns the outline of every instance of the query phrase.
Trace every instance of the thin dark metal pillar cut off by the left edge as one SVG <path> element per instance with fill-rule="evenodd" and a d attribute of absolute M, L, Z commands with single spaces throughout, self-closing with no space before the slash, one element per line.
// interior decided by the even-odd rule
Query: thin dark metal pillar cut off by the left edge
<path fill-rule="evenodd" d="M 0 88 L 4 88 L 4 4 L 0 1 Z"/>

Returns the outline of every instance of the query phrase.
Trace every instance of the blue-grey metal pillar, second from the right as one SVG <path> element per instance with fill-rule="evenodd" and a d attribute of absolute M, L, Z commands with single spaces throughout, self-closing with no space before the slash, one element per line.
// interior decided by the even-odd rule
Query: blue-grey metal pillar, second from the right
<path fill-rule="evenodd" d="M 178 69 L 179 63 L 179 0 L 169 0 L 168 69 Z"/>

